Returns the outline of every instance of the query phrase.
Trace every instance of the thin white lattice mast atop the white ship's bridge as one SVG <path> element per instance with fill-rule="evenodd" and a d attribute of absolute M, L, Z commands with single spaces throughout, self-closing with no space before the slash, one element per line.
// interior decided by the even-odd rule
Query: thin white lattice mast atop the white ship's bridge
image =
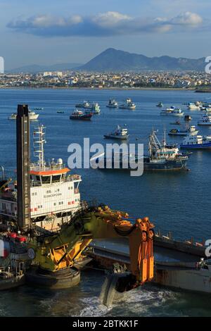
<path fill-rule="evenodd" d="M 44 143 L 45 140 L 45 127 L 44 125 L 38 125 L 34 127 L 34 156 L 38 158 L 39 168 L 44 168 Z"/>

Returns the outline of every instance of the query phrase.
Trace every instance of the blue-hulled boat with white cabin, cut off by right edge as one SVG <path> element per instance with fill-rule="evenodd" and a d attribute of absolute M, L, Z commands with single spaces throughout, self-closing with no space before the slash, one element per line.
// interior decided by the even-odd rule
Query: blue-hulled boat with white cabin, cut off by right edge
<path fill-rule="evenodd" d="M 210 149 L 211 148 L 211 136 L 189 135 L 184 139 L 184 142 L 180 145 L 181 149 Z"/>

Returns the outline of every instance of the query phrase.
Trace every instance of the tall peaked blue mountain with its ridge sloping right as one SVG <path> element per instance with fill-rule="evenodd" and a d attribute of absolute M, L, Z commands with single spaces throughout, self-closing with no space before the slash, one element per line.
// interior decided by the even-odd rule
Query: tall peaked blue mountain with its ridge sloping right
<path fill-rule="evenodd" d="M 132 54 L 109 48 L 82 65 L 84 71 L 144 71 L 144 70 L 197 70 L 205 68 L 205 58 L 174 58 L 160 56 L 148 58 L 144 55 Z"/>

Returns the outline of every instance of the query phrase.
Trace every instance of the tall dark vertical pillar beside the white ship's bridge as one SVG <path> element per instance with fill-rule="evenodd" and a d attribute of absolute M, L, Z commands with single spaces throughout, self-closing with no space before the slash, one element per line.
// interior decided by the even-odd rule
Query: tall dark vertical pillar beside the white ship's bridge
<path fill-rule="evenodd" d="M 30 227 L 30 118 L 28 106 L 18 105 L 16 120 L 18 227 Z"/>

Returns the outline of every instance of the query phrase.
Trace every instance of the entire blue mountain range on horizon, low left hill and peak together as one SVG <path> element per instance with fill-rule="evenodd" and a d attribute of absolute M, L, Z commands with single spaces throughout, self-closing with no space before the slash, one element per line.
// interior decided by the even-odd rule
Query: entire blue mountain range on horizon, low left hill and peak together
<path fill-rule="evenodd" d="M 7 70 L 9 73 L 41 73 L 44 71 L 145 71 L 145 70 L 205 70 L 205 58 L 174 58 L 171 56 L 155 56 L 149 58 L 141 54 L 132 54 L 127 51 L 119 51 L 109 48 L 89 62 L 82 65 L 80 63 L 58 63 L 53 65 L 24 65 L 20 68 Z"/>

